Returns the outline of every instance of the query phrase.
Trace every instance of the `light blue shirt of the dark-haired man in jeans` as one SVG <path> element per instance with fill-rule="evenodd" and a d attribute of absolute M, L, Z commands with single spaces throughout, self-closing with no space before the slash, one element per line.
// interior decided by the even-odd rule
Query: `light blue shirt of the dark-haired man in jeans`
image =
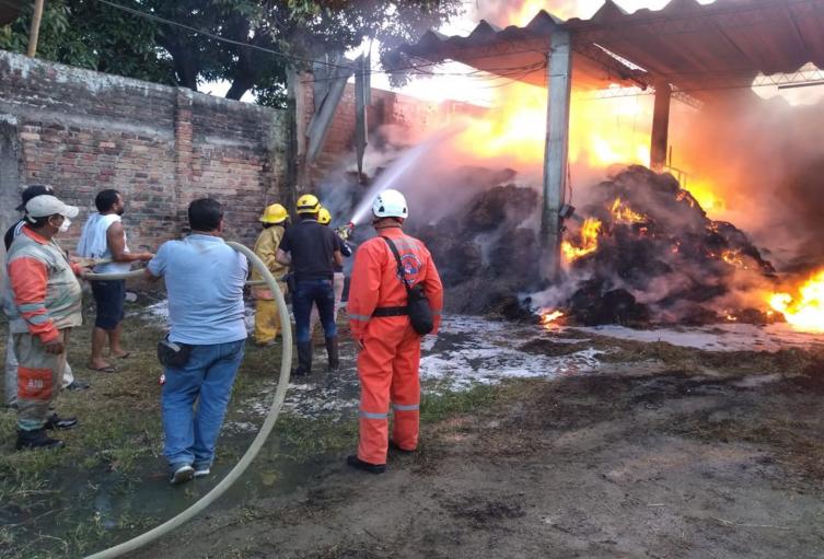
<path fill-rule="evenodd" d="M 246 339 L 246 257 L 212 235 L 163 243 L 149 271 L 166 280 L 169 339 L 195 346 Z"/>

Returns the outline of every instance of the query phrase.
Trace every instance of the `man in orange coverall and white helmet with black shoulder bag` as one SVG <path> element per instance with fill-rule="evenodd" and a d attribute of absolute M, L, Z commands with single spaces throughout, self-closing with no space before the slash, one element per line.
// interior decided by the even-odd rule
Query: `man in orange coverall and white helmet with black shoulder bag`
<path fill-rule="evenodd" d="M 418 445 L 421 338 L 405 312 L 406 287 L 398 277 L 397 260 L 382 237 L 388 237 L 397 247 L 409 286 L 423 287 L 434 315 L 432 334 L 440 325 L 443 287 L 427 247 L 402 230 L 408 217 L 404 195 L 384 190 L 375 198 L 372 213 L 378 236 L 358 248 L 349 286 L 351 333 L 361 349 L 361 392 L 358 454 L 349 456 L 347 464 L 382 474 L 386 469 L 387 446 L 411 452 Z M 390 403 L 395 416 L 391 440 Z"/>

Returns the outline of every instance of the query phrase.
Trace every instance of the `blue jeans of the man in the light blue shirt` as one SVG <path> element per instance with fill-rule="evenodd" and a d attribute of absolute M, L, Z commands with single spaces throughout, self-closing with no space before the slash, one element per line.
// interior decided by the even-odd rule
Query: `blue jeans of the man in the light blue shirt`
<path fill-rule="evenodd" d="M 245 340 L 193 346 L 184 366 L 165 368 L 166 382 L 161 392 L 163 454 L 173 471 L 186 464 L 209 467 L 214 459 L 214 443 L 244 346 Z"/>

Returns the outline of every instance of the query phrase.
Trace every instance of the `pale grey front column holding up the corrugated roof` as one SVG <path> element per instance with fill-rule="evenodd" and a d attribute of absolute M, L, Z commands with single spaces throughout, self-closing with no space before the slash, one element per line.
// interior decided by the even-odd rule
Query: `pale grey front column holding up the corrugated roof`
<path fill-rule="evenodd" d="M 560 228 L 558 216 L 567 187 L 569 104 L 572 92 L 572 48 L 569 32 L 554 30 L 547 65 L 546 149 L 544 152 L 544 206 L 541 236 L 546 249 L 546 276 L 560 276 Z"/>

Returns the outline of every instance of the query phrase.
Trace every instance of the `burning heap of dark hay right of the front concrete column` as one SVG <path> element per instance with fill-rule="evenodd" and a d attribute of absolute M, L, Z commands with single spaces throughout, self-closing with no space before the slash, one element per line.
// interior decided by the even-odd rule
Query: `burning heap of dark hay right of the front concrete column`
<path fill-rule="evenodd" d="M 578 235 L 562 245 L 566 316 L 628 326 L 774 319 L 739 296 L 770 282 L 770 263 L 734 225 L 708 219 L 671 175 L 630 166 L 592 194 Z"/>

